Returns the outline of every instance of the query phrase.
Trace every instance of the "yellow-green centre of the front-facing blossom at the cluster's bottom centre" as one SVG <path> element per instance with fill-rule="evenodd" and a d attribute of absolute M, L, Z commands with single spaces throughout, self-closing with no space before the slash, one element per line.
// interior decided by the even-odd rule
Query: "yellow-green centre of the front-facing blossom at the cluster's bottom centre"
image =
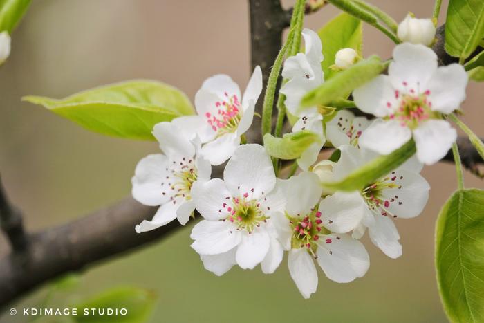
<path fill-rule="evenodd" d="M 248 193 L 244 193 L 242 197 L 231 198 L 227 196 L 225 199 L 232 203 L 230 205 L 229 203 L 223 203 L 222 208 L 218 212 L 227 212 L 228 215 L 225 220 L 234 223 L 237 230 L 247 230 L 250 233 L 269 219 L 259 201 L 249 199 Z M 267 207 L 267 209 L 270 210 L 270 207 Z"/>

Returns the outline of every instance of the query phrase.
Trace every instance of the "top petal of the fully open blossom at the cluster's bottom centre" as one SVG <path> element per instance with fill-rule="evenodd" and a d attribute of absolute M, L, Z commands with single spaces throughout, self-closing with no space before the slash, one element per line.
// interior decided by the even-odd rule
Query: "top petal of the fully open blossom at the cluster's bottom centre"
<path fill-rule="evenodd" d="M 241 145 L 230 158 L 223 178 L 234 196 L 248 193 L 252 199 L 268 194 L 276 185 L 272 162 L 261 145 Z"/>

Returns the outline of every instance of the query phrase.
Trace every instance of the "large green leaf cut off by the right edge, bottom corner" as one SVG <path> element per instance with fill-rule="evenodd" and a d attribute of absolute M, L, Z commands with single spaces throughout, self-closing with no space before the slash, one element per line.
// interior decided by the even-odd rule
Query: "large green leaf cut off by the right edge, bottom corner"
<path fill-rule="evenodd" d="M 483 190 L 458 190 L 438 216 L 437 281 L 452 322 L 484 322 L 483 210 Z"/>

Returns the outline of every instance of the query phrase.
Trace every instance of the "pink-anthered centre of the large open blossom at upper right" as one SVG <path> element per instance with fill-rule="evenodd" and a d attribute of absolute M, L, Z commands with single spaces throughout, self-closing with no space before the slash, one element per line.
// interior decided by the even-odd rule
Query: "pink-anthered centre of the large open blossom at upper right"
<path fill-rule="evenodd" d="M 402 127 L 409 127 L 415 129 L 422 121 L 436 118 L 437 114 L 431 110 L 432 103 L 427 98 L 430 91 L 416 94 L 413 89 L 410 94 L 400 95 L 395 91 L 395 98 L 398 101 L 398 108 L 388 117 L 391 120 L 398 120 Z M 391 103 L 387 102 L 387 107 L 391 108 Z"/>

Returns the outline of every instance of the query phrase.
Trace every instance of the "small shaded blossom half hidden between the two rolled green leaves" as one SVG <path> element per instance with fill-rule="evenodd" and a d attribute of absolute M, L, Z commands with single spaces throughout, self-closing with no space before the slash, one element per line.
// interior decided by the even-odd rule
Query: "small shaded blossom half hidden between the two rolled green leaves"
<path fill-rule="evenodd" d="M 326 122 L 326 138 L 334 147 L 353 145 L 357 147 L 358 139 L 371 122 L 364 117 L 355 117 L 347 110 L 340 110 Z"/>

